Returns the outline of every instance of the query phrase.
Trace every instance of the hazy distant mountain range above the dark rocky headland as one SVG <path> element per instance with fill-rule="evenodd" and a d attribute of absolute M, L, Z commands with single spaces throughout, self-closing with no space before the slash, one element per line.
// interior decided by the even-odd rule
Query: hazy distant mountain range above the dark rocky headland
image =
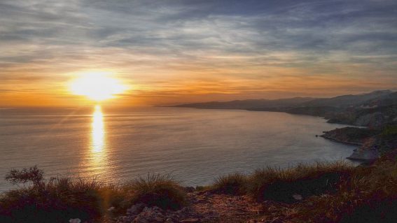
<path fill-rule="evenodd" d="M 244 109 L 279 111 L 325 117 L 328 122 L 380 127 L 397 122 L 397 92 L 379 90 L 332 98 L 295 97 L 291 99 L 249 99 L 187 103 L 174 107 L 203 109 Z"/>

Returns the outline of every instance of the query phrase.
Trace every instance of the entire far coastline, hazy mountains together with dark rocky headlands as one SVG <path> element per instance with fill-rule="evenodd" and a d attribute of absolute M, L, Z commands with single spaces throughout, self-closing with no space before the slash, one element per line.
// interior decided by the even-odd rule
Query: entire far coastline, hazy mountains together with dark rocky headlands
<path fill-rule="evenodd" d="M 179 104 L 178 108 L 242 109 L 274 111 L 324 117 L 329 123 L 349 124 L 326 131 L 323 138 L 359 145 L 349 159 L 373 160 L 397 148 L 397 139 L 389 137 L 397 131 L 397 92 L 389 89 L 366 94 L 349 94 L 332 98 L 295 97 L 289 99 L 249 99 Z M 366 128 L 363 128 L 366 127 Z"/>

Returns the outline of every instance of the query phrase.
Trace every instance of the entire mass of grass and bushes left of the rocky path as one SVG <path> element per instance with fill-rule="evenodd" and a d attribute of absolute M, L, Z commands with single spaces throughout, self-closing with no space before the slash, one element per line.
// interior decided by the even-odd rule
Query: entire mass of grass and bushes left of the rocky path
<path fill-rule="evenodd" d="M 186 194 L 168 175 L 148 175 L 125 185 L 111 185 L 96 179 L 43 178 L 36 166 L 12 170 L 6 180 L 18 189 L 0 194 L 0 222 L 98 222 L 115 213 L 125 213 L 134 203 L 180 208 Z"/>

